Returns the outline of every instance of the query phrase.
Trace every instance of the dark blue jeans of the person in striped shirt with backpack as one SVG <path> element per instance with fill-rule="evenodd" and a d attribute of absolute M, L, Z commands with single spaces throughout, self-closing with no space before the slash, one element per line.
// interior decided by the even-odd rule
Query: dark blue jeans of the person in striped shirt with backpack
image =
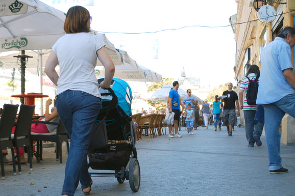
<path fill-rule="evenodd" d="M 255 144 L 254 134 L 258 134 L 259 137 L 261 136 L 264 125 L 263 123 L 254 120 L 255 114 L 256 110 L 254 109 L 244 110 L 246 138 L 250 145 Z"/>

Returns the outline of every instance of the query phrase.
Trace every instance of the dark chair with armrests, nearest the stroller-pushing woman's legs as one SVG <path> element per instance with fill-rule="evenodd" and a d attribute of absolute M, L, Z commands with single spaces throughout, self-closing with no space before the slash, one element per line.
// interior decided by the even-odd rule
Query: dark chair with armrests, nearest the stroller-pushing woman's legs
<path fill-rule="evenodd" d="M 67 153 L 69 152 L 69 136 L 66 132 L 66 129 L 61 121 L 57 122 L 47 122 L 47 121 L 33 121 L 32 123 L 42 123 L 42 124 L 53 124 L 58 125 L 56 132 L 51 133 L 32 133 L 31 132 L 31 141 L 36 141 L 37 145 L 37 155 L 39 159 L 42 160 L 42 145 L 43 141 L 54 142 L 56 143 L 56 159 L 59 158 L 60 164 L 62 164 L 62 150 L 61 144 L 66 142 Z"/>

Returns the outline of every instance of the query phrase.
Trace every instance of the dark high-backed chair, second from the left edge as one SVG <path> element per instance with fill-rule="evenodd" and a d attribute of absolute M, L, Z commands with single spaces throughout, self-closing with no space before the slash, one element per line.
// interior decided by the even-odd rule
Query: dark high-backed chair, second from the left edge
<path fill-rule="evenodd" d="M 18 118 L 15 125 L 14 136 L 12 139 L 13 146 L 16 148 L 18 160 L 18 172 L 21 174 L 21 163 L 19 147 L 27 147 L 28 162 L 30 163 L 30 171 L 33 171 L 32 154 L 31 154 L 31 124 L 34 115 L 35 105 L 21 104 L 19 108 Z"/>

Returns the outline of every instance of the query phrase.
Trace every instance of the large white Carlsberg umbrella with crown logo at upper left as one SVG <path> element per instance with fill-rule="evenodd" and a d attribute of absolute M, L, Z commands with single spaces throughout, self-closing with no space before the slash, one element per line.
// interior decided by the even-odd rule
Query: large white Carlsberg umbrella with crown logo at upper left
<path fill-rule="evenodd" d="M 24 94 L 25 68 L 28 58 L 24 50 L 36 50 L 42 57 L 42 49 L 50 49 L 63 35 L 65 13 L 38 0 L 2 0 L 0 12 L 0 52 L 21 50 L 21 94 Z M 112 49 L 111 49 L 112 50 Z M 108 50 L 109 51 L 109 50 Z M 121 64 L 120 54 L 113 50 Z M 42 58 L 40 58 L 42 65 Z M 42 66 L 40 66 L 42 73 Z M 42 74 L 40 74 L 42 75 Z M 40 78 L 40 93 L 42 93 Z"/>

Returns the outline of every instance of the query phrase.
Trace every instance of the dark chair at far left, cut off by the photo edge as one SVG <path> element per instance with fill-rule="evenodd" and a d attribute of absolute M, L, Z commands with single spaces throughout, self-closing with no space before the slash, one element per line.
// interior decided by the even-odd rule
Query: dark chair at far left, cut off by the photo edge
<path fill-rule="evenodd" d="M 14 126 L 14 121 L 17 113 L 18 105 L 4 104 L 3 112 L 0 120 L 0 161 L 1 161 L 1 174 L 2 179 L 5 179 L 4 172 L 4 156 L 2 150 L 11 149 L 13 174 L 16 175 L 15 156 L 11 138 L 11 131 Z"/>

